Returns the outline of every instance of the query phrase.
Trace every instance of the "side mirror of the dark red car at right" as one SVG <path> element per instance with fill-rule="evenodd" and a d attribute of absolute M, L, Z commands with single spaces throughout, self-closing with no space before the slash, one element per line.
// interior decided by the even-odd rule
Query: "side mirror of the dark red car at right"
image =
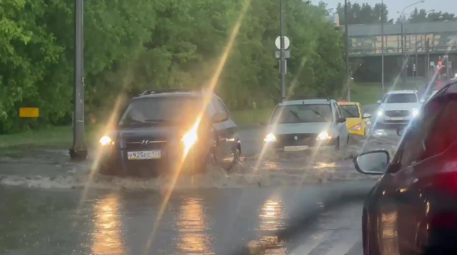
<path fill-rule="evenodd" d="M 383 175 L 390 162 L 387 150 L 372 150 L 354 158 L 357 172 L 365 175 Z"/>

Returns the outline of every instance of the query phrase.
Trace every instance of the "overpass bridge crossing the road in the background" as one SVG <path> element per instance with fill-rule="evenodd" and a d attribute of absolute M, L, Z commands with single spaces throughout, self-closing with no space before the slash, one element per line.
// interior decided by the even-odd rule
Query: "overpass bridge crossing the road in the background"
<path fill-rule="evenodd" d="M 381 25 L 350 25 L 348 32 L 350 58 L 369 58 L 370 63 L 376 63 L 380 69 Z M 457 72 L 457 21 L 404 23 L 403 36 L 405 55 L 408 56 L 408 76 L 426 76 L 433 64 L 436 65 L 445 55 L 454 63 L 452 74 Z M 430 59 L 427 58 L 427 40 Z M 401 25 L 384 24 L 384 69 L 401 68 L 401 48 Z"/>

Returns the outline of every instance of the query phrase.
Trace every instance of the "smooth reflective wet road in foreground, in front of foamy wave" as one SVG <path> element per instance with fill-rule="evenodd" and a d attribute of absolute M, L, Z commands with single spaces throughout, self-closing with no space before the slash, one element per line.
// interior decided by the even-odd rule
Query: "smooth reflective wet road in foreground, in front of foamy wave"
<path fill-rule="evenodd" d="M 78 190 L 0 187 L 0 228 L 5 233 L 0 236 L 0 253 L 234 254 L 250 241 L 274 236 L 293 223 L 291 217 L 315 210 L 326 197 L 363 194 L 373 184 L 176 191 L 147 252 L 163 199 L 159 192 L 92 190 L 81 203 Z M 268 253 L 345 254 L 360 246 L 360 219 L 361 201 L 346 203 L 323 213 L 297 239 Z"/>

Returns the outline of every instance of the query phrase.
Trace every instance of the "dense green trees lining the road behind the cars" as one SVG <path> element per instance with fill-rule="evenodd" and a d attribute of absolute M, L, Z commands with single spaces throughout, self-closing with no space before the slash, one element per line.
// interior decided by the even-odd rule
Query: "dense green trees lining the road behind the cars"
<path fill-rule="evenodd" d="M 244 0 L 96 0 L 84 6 L 85 111 L 104 116 L 121 94 L 207 84 Z M 232 110 L 270 106 L 280 96 L 279 1 L 252 0 L 217 91 Z M 292 56 L 288 80 L 300 93 L 339 93 L 341 32 L 325 10 L 287 0 Z M 0 2 L 0 133 L 71 122 L 74 0 Z M 39 107 L 21 120 L 19 107 Z M 105 114 L 106 115 L 106 114 Z"/>

